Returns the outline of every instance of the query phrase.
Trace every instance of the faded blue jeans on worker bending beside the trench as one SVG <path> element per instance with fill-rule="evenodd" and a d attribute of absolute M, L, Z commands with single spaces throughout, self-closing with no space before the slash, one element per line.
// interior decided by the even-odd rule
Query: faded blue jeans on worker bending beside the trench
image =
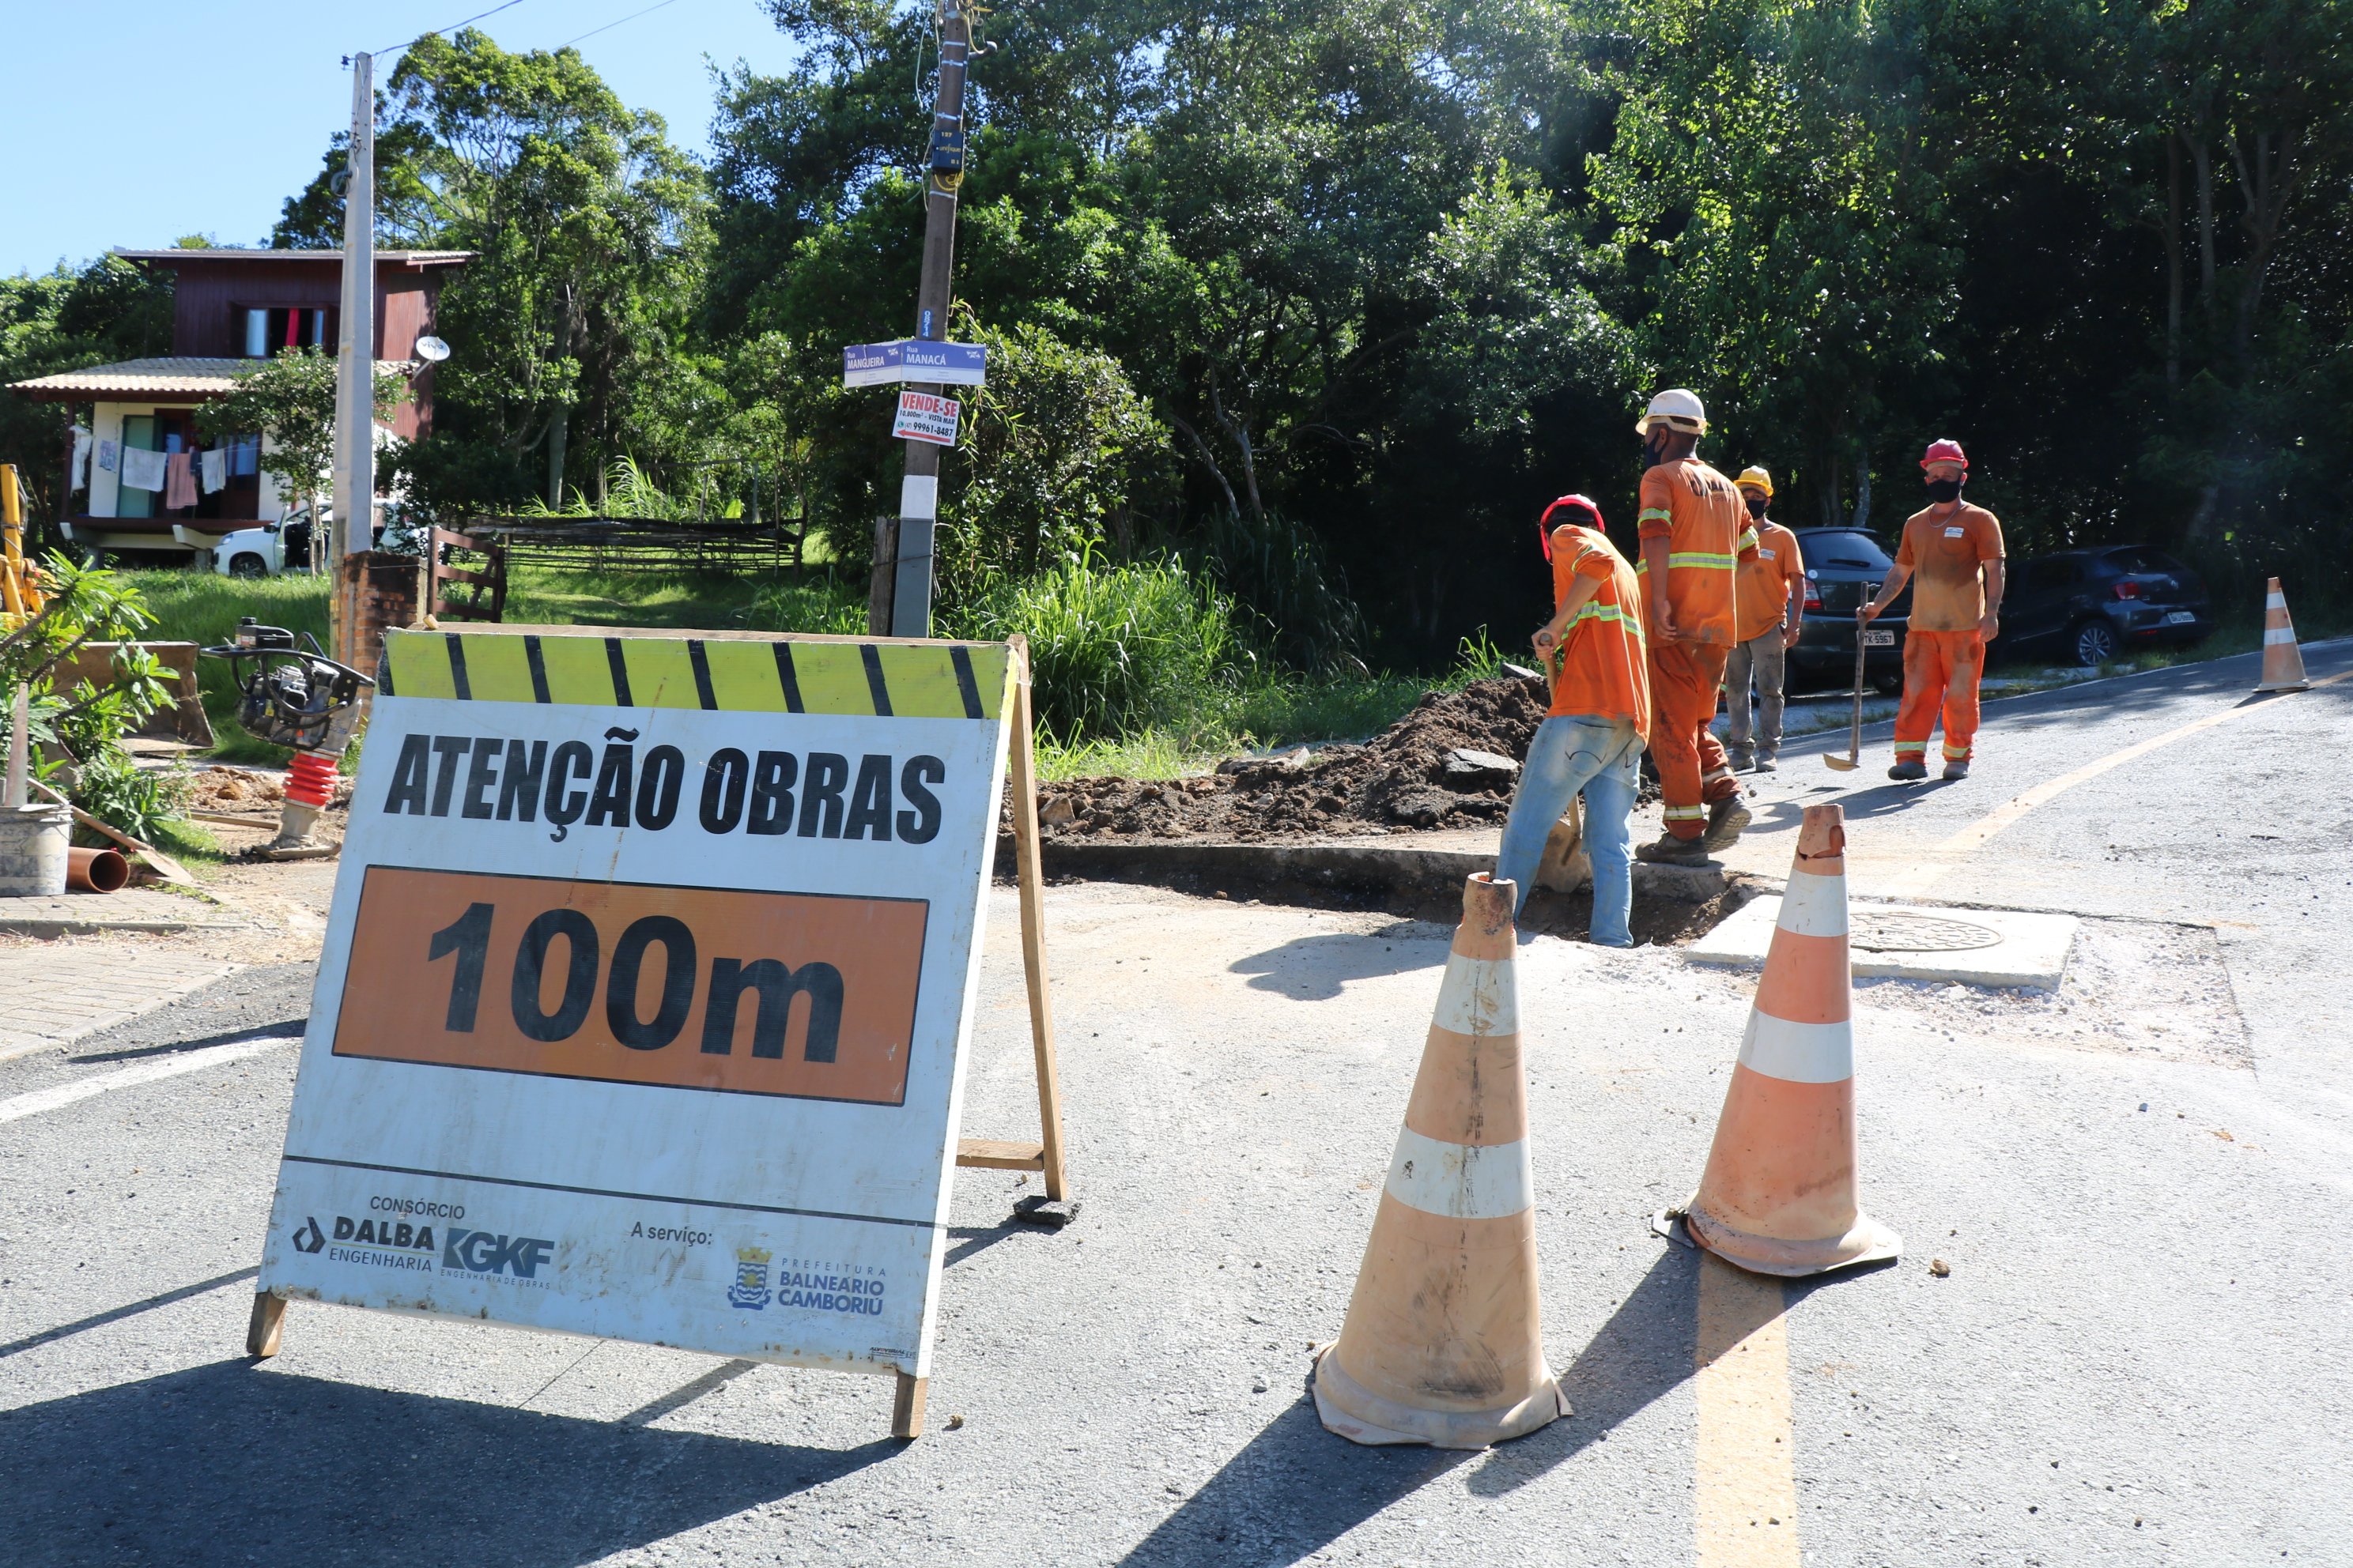
<path fill-rule="evenodd" d="M 1584 790 L 1586 853 L 1593 856 L 1593 940 L 1602 947 L 1633 947 L 1633 856 L 1626 823 L 1633 818 L 1640 762 L 1642 736 L 1624 719 L 1551 717 L 1537 729 L 1520 766 L 1520 790 L 1511 797 L 1511 820 L 1504 823 L 1504 853 L 1494 860 L 1497 879 L 1520 884 L 1515 914 L 1537 884 L 1544 839 Z"/>

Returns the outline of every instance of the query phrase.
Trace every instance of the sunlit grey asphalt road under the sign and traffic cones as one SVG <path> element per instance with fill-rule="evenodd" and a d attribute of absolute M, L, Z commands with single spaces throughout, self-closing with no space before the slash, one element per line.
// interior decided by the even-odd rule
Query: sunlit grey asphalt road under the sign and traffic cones
<path fill-rule="evenodd" d="M 1339 1328 L 1447 933 L 1068 886 L 1082 1211 L 1014 1227 L 1016 1178 L 960 1175 L 911 1446 L 885 1380 L 492 1326 L 296 1302 L 285 1354 L 247 1361 L 301 964 L 0 1065 L 0 1556 L 2353 1563 L 2353 682 L 2238 710 L 2247 686 L 2224 661 L 1988 708 L 1965 785 L 1831 778 L 1819 743 L 1762 780 L 1737 863 L 1786 870 L 1798 806 L 1835 797 L 1857 896 L 2089 919 L 2057 997 L 1857 990 L 1866 1201 L 1908 1248 L 1786 1293 L 1798 1507 L 1753 1549 L 1708 1535 L 1699 1262 L 1642 1222 L 1699 1175 L 1751 980 L 1522 945 L 1577 1413 L 1485 1455 L 1360 1450 L 1318 1427 L 1306 1352 Z M 969 1135 L 1031 1126 L 1012 933 L 1000 891 Z"/>

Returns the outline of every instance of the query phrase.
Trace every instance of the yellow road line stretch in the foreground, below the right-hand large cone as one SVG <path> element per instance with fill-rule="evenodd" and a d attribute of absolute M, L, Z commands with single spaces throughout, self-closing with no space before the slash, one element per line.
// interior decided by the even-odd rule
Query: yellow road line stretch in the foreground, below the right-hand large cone
<path fill-rule="evenodd" d="M 1699 1258 L 1699 1568 L 1798 1568 L 1781 1281 Z"/>

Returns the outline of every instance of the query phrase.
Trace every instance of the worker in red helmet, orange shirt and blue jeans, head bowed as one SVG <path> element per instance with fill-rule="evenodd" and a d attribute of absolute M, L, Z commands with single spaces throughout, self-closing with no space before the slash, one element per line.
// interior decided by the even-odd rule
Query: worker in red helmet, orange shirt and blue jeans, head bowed
<path fill-rule="evenodd" d="M 1565 522 L 1553 529 L 1553 517 Z M 1551 529 L 1546 534 L 1546 529 Z M 1553 618 L 1537 632 L 1537 656 L 1553 675 L 1553 705 L 1520 766 L 1494 875 L 1520 886 L 1553 823 L 1586 797 L 1586 853 L 1593 860 L 1593 926 L 1602 947 L 1633 947 L 1633 863 L 1626 856 L 1642 745 L 1649 741 L 1649 670 L 1642 658 L 1642 599 L 1633 567 L 1602 534 L 1602 510 L 1562 496 L 1537 524 L 1553 562 Z"/>

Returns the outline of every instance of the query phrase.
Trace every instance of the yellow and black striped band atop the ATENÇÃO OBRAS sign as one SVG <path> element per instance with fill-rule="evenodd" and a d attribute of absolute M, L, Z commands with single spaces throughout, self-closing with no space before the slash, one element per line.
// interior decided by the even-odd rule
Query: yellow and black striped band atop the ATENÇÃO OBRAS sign
<path fill-rule="evenodd" d="M 381 696 L 581 708 L 995 719 L 1002 642 L 605 637 L 593 628 L 384 635 Z"/>

